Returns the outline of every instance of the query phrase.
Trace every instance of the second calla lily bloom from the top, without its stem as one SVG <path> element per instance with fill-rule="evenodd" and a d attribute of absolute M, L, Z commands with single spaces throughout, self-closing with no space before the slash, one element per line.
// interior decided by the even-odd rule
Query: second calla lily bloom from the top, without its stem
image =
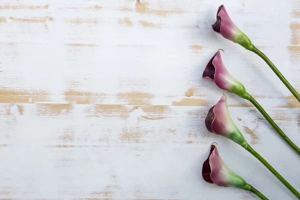
<path fill-rule="evenodd" d="M 227 71 L 221 58 L 220 49 L 207 63 L 202 77 L 213 81 L 221 89 L 235 93 L 245 99 L 250 98 L 250 94 L 246 92 L 245 87 Z"/>

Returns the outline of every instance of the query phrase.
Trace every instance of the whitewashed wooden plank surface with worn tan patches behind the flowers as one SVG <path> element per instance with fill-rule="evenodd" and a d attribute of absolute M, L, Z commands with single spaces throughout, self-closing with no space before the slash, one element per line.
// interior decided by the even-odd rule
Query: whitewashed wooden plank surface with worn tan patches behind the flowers
<path fill-rule="evenodd" d="M 0 0 L 0 198 L 258 199 L 202 179 L 215 141 L 269 199 L 295 199 L 204 125 L 223 91 L 201 75 L 223 48 L 230 73 L 300 145 L 300 103 L 262 59 L 212 31 L 220 4 L 300 92 L 299 0 Z M 227 95 L 247 141 L 300 190 L 299 156 Z"/>

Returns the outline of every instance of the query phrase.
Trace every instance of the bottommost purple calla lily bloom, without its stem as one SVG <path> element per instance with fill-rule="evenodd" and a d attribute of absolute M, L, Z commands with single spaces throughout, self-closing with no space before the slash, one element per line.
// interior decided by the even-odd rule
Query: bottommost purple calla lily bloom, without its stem
<path fill-rule="evenodd" d="M 202 166 L 202 177 L 206 182 L 215 183 L 218 186 L 250 189 L 250 185 L 243 178 L 225 165 L 213 143 L 210 145 L 209 155 Z"/>

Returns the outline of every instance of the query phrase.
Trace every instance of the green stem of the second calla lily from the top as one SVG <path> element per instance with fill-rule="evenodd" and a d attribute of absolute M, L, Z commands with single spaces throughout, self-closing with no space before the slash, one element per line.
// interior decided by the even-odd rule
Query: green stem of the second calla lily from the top
<path fill-rule="evenodd" d="M 278 127 L 278 125 L 273 121 L 273 119 L 266 113 L 266 111 L 261 107 L 261 105 L 252 97 L 248 99 L 264 116 L 264 118 L 269 122 L 269 124 L 278 132 L 278 134 L 284 139 L 284 141 L 296 151 L 300 155 L 300 149 L 296 144 L 294 144 L 285 134 L 284 132 Z"/>

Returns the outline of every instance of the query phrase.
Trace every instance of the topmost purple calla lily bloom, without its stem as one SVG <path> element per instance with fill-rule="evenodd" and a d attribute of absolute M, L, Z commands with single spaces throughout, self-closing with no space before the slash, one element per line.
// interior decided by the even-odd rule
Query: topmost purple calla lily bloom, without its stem
<path fill-rule="evenodd" d="M 248 50 L 252 49 L 251 40 L 233 23 L 224 5 L 218 7 L 216 21 L 211 26 L 214 31 L 220 33 L 226 39 L 238 43 Z"/>

